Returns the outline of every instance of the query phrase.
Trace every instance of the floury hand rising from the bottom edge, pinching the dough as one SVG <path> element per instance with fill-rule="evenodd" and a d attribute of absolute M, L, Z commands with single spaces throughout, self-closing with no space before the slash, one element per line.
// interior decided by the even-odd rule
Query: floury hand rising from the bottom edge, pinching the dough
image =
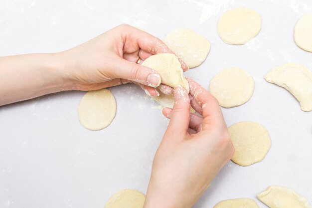
<path fill-rule="evenodd" d="M 163 109 L 170 122 L 155 155 L 144 208 L 191 208 L 234 154 L 218 101 L 188 81 L 192 102 L 177 87 L 173 109 Z M 190 103 L 202 116 L 190 114 Z"/>

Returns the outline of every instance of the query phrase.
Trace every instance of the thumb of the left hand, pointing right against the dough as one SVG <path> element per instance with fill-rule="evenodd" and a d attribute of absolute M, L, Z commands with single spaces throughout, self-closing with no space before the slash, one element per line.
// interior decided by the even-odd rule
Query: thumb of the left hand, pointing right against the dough
<path fill-rule="evenodd" d="M 113 78 L 128 79 L 151 87 L 158 87 L 160 75 L 153 69 L 120 58 L 113 71 Z"/>

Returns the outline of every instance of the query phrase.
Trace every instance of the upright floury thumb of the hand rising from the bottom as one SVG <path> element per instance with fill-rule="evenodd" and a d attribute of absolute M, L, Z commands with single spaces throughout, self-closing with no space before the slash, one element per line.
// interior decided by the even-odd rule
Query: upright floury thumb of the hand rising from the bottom
<path fill-rule="evenodd" d="M 168 125 L 169 131 L 185 134 L 188 130 L 190 118 L 190 101 L 183 87 L 174 88 L 174 105 Z"/>

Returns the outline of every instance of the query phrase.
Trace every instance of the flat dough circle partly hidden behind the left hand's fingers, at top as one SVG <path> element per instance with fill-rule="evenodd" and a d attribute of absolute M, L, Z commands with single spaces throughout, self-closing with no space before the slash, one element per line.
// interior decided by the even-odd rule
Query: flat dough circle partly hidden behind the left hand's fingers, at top
<path fill-rule="evenodd" d="M 189 68 L 200 65 L 210 51 L 210 42 L 204 36 L 186 28 L 171 30 L 163 42 L 182 58 Z"/>

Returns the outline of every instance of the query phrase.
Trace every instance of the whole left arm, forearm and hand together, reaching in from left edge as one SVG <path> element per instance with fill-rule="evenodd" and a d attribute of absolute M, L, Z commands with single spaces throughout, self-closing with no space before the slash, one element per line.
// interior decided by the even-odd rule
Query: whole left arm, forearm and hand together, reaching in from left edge
<path fill-rule="evenodd" d="M 128 82 L 157 96 L 159 74 L 140 64 L 158 53 L 172 51 L 153 35 L 122 24 L 66 51 L 0 57 L 0 106 L 53 92 L 96 90 Z M 172 91 L 162 84 L 159 89 L 165 94 Z"/>

